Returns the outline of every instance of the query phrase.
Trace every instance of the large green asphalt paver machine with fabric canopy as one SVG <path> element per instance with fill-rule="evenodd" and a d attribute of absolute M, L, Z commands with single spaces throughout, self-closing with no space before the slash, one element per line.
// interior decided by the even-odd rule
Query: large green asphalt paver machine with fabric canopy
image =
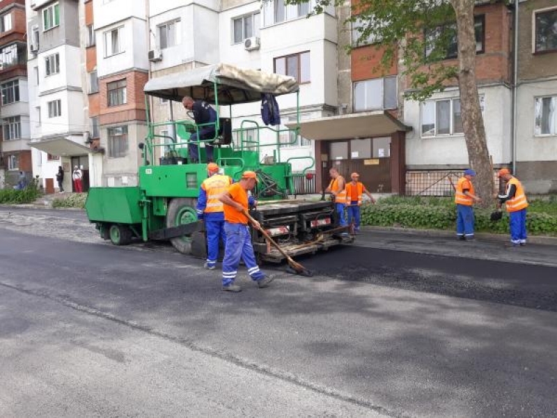
<path fill-rule="evenodd" d="M 290 199 L 295 192 L 291 161 L 308 160 L 303 173 L 315 164 L 313 157 L 307 155 L 281 160 L 281 146 L 285 145 L 281 139 L 294 142 L 299 134 L 299 88 L 295 79 L 216 64 L 151 79 L 144 91 L 146 95 L 166 100 L 181 102 L 187 95 L 213 104 L 219 116 L 214 122 L 215 135 L 212 139 L 199 139 L 197 135 L 195 143 L 201 163 L 189 164 L 189 137 L 202 126 L 192 119 L 152 122 L 146 98 L 148 134 L 145 142 L 139 144 L 143 153 L 139 186 L 89 190 L 88 219 L 95 223 L 102 238 L 115 245 L 125 245 L 134 237 L 143 241 L 170 240 L 184 254 L 205 257 L 205 234 L 203 223 L 197 220 L 196 203 L 199 187 L 207 178 L 204 146 L 210 143 L 214 146 L 214 162 L 224 174 L 238 180 L 243 171 L 256 171 L 259 183 L 253 196 L 258 204 L 252 215 L 289 256 L 315 253 L 352 241 L 340 234 L 345 229 L 336 226 L 331 201 Z M 233 107 L 260 102 L 264 93 L 296 94 L 296 126 L 270 127 L 244 118 L 240 128 L 234 131 L 233 142 Z M 226 116 L 222 116 L 221 110 Z M 162 130 L 175 135 L 163 134 Z M 272 150 L 272 157 L 261 159 L 264 147 Z M 252 234 L 259 261 L 283 259 L 259 231 L 253 230 Z"/>

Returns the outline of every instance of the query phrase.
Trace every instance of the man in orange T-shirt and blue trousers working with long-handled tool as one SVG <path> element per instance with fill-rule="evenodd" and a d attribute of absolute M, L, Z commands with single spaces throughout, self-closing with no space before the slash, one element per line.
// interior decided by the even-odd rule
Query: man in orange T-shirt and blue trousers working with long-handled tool
<path fill-rule="evenodd" d="M 236 279 L 240 258 L 244 261 L 248 274 L 258 287 L 265 288 L 273 281 L 274 277 L 267 276 L 259 270 L 256 256 L 251 245 L 251 234 L 248 219 L 243 211 L 248 210 L 248 191 L 256 186 L 257 174 L 254 171 L 244 171 L 238 183 L 228 187 L 228 191 L 219 196 L 224 203 L 224 232 L 226 233 L 226 245 L 222 261 L 222 290 L 228 292 L 240 292 L 242 288 L 234 284 Z M 253 224 L 256 229 L 261 229 L 256 221 Z"/>

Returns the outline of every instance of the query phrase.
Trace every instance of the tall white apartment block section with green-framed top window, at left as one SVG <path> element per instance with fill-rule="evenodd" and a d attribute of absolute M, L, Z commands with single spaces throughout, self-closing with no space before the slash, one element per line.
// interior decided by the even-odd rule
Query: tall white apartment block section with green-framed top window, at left
<path fill-rule="evenodd" d="M 72 169 L 83 171 L 89 185 L 88 125 L 79 20 L 81 3 L 72 0 L 27 0 L 26 17 L 31 74 L 29 114 L 33 174 L 47 193 L 56 185 L 58 167 L 64 189 L 72 190 Z"/>

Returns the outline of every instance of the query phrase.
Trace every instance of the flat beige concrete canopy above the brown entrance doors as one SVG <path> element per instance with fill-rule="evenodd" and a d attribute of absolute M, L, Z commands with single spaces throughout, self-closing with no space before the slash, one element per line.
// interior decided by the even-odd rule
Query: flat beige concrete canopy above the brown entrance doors
<path fill-rule="evenodd" d="M 287 123 L 290 128 L 296 123 Z M 300 134 L 306 139 L 331 141 L 355 137 L 388 137 L 397 131 L 410 131 L 412 128 L 398 121 L 388 111 L 369 111 L 358 114 L 330 116 L 329 118 L 310 119 L 300 122 Z"/>

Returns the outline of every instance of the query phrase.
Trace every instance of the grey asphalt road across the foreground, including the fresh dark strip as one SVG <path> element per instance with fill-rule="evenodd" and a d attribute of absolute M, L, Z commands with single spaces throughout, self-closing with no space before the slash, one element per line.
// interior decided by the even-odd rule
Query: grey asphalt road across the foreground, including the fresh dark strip
<path fill-rule="evenodd" d="M 0 417 L 557 417 L 557 247 L 366 231 L 258 289 L 0 207 Z"/>

